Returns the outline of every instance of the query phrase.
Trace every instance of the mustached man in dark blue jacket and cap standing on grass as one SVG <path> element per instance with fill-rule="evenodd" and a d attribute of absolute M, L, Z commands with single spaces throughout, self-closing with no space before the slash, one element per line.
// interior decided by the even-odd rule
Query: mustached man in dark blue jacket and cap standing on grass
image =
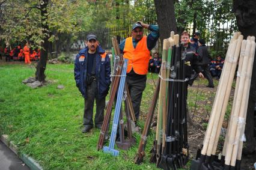
<path fill-rule="evenodd" d="M 83 133 L 93 128 L 93 106 L 96 99 L 95 127 L 101 129 L 104 119 L 105 98 L 111 83 L 111 66 L 108 54 L 99 46 L 94 34 L 87 35 L 87 47 L 75 59 L 75 80 L 84 97 Z"/>

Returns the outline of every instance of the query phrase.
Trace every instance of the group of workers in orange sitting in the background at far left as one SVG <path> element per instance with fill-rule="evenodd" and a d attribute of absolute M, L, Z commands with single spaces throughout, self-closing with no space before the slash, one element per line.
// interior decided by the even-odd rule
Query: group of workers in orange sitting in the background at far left
<path fill-rule="evenodd" d="M 1 59 L 2 54 L 5 56 L 5 61 L 25 61 L 25 64 L 31 64 L 31 61 L 38 61 L 40 59 L 40 49 L 33 50 L 29 48 L 28 44 L 23 49 L 20 44 L 12 50 L 8 46 L 4 49 L 1 48 Z"/>

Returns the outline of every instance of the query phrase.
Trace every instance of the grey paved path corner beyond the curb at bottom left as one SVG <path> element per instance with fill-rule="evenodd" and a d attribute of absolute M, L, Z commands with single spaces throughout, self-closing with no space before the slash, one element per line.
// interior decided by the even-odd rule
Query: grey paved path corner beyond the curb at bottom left
<path fill-rule="evenodd" d="M 16 154 L 0 141 L 0 169 L 1 170 L 29 170 L 28 166 Z"/>

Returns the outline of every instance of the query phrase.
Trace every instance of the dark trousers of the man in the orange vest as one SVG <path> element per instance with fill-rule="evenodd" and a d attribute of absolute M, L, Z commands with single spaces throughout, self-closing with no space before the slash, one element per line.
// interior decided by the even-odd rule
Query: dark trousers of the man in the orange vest
<path fill-rule="evenodd" d="M 127 74 L 126 82 L 128 85 L 130 98 L 136 120 L 139 120 L 139 107 L 141 106 L 142 93 L 145 90 L 147 75 Z"/>

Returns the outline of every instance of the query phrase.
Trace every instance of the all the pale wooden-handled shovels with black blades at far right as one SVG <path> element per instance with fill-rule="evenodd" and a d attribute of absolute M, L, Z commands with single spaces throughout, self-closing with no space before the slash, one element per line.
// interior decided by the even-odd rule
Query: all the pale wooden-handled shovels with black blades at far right
<path fill-rule="evenodd" d="M 245 139 L 243 133 L 255 54 L 255 37 L 247 37 L 247 40 L 243 40 L 243 35 L 240 34 L 240 32 L 236 32 L 230 41 L 215 102 L 213 103 L 212 114 L 204 137 L 203 148 L 198 150 L 196 159 L 192 161 L 190 167 L 192 170 L 240 169 L 242 147 Z M 216 148 L 227 110 L 238 58 L 239 68 L 237 71 L 236 90 L 228 130 L 225 136 L 222 156 L 221 154 L 216 156 Z"/>

